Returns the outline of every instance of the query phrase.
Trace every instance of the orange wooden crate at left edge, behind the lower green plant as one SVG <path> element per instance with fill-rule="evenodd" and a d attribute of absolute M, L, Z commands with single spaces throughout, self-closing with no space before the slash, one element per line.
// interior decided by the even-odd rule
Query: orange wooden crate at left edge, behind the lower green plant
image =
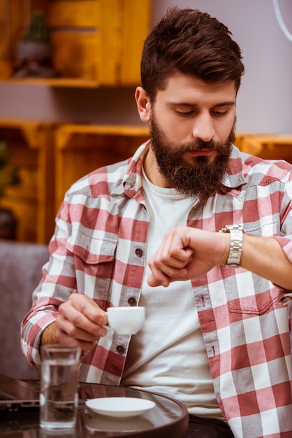
<path fill-rule="evenodd" d="M 54 125 L 0 119 L 20 185 L 8 188 L 1 206 L 17 218 L 17 240 L 45 243 L 54 230 Z"/>

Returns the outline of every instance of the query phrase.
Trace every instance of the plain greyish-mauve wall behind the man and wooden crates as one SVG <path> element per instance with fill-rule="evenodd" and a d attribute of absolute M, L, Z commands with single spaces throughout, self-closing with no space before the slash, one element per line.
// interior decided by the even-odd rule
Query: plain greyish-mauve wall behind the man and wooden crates
<path fill-rule="evenodd" d="M 23 2 L 26 3 L 25 0 Z M 139 8 L 144 1 L 132 3 Z M 278 3 L 286 27 L 292 34 L 292 2 L 278 0 Z M 273 1 L 152 0 L 150 19 L 145 16 L 145 21 L 149 20 L 149 27 L 162 17 L 169 6 L 199 8 L 216 16 L 228 26 L 240 44 L 246 73 L 238 95 L 238 129 L 290 133 L 292 41 L 286 38 L 279 27 Z M 135 34 L 132 37 L 135 41 Z M 108 52 L 107 56 L 111 57 L 112 54 Z M 78 57 L 74 62 L 79 62 Z M 0 117 L 79 123 L 140 123 L 133 99 L 135 85 L 88 90 L 82 87 L 0 83 Z"/>

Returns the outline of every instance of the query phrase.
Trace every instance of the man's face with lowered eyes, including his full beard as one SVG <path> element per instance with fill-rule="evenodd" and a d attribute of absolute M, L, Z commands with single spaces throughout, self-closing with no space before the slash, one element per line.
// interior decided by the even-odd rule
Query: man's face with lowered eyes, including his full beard
<path fill-rule="evenodd" d="M 199 197 L 220 188 L 235 138 L 235 95 L 233 83 L 209 85 L 188 76 L 170 78 L 157 93 L 150 156 L 163 185 Z"/>

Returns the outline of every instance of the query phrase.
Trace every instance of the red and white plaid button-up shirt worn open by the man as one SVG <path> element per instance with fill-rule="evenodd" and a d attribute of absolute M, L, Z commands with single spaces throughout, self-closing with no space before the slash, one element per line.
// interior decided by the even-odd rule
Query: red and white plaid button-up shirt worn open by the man
<path fill-rule="evenodd" d="M 131 160 L 92 172 L 66 193 L 50 260 L 22 323 L 22 350 L 34 366 L 41 363 L 43 330 L 72 293 L 102 309 L 139 302 L 149 223 L 141 188 L 146 150 L 147 143 Z M 194 204 L 187 225 L 218 232 L 242 224 L 248 234 L 274 236 L 292 261 L 291 170 L 233 147 L 231 174 L 213 197 Z M 192 286 L 214 391 L 235 437 L 292 437 L 291 292 L 224 266 Z M 129 341 L 108 331 L 82 354 L 80 381 L 118 385 Z"/>

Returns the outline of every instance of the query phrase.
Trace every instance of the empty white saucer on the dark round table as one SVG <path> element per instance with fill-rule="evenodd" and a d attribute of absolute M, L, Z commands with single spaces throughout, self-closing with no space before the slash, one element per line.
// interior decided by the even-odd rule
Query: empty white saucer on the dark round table
<path fill-rule="evenodd" d="M 97 414 L 119 418 L 145 414 L 155 406 L 155 403 L 151 400 L 134 397 L 93 398 L 87 400 L 85 404 Z"/>

